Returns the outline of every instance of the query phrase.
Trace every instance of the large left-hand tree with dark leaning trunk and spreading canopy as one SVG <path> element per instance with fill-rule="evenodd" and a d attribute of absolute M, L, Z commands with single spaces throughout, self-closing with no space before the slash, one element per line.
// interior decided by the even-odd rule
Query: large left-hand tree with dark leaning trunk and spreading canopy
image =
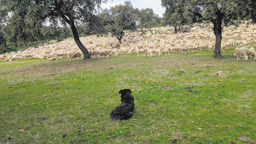
<path fill-rule="evenodd" d="M 53 24 L 58 22 L 63 25 L 68 24 L 77 46 L 84 54 L 84 59 L 87 59 L 90 55 L 79 39 L 75 24 L 89 23 L 102 1 L 106 2 L 106 0 L 2 0 L 0 16 L 8 23 L 11 18 L 18 20 L 14 17 L 16 13 L 24 12 L 24 18 L 31 27 L 40 25 L 46 20 Z"/>

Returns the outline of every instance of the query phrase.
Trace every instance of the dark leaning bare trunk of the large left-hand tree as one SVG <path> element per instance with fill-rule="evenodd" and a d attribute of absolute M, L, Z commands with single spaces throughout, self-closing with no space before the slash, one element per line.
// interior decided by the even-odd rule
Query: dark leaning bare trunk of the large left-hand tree
<path fill-rule="evenodd" d="M 85 48 L 85 46 L 82 44 L 82 42 L 79 39 L 79 36 L 78 36 L 78 33 L 77 33 L 77 29 L 76 29 L 74 20 L 72 20 L 70 22 L 70 27 L 71 27 L 71 30 L 72 30 L 72 33 L 73 33 L 73 36 L 74 36 L 74 40 L 75 40 L 77 46 L 83 52 L 84 60 L 86 60 L 88 58 L 91 58 L 88 50 Z"/>

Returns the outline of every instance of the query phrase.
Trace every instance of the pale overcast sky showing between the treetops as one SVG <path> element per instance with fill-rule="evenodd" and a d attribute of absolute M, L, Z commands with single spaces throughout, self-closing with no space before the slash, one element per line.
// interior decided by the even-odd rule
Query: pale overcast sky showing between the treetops
<path fill-rule="evenodd" d="M 156 14 L 163 16 L 165 8 L 161 5 L 161 0 L 130 0 L 135 8 L 145 9 L 152 8 Z M 117 4 L 123 4 L 124 0 L 108 0 L 107 4 L 101 4 L 102 9 L 115 6 Z"/>

